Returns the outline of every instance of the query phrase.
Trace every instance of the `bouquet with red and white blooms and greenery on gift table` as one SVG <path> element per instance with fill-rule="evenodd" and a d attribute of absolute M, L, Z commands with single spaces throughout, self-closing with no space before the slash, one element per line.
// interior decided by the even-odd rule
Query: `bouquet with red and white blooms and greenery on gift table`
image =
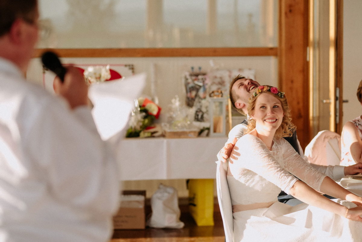
<path fill-rule="evenodd" d="M 153 121 L 159 118 L 161 108 L 150 99 L 139 98 L 135 100 L 135 109 L 130 118 L 130 128 L 127 129 L 126 137 L 151 137 L 159 134 L 155 129 Z"/>

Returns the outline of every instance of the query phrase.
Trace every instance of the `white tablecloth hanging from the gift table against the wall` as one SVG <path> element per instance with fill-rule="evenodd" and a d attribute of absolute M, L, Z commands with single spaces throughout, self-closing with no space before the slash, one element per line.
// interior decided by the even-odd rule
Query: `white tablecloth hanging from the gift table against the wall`
<path fill-rule="evenodd" d="M 118 147 L 122 180 L 214 179 L 227 137 L 125 138 Z"/>

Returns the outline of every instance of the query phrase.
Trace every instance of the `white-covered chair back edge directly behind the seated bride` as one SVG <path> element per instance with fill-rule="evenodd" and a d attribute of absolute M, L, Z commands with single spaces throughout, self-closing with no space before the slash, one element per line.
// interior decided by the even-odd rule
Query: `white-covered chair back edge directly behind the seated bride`
<path fill-rule="evenodd" d="M 233 242 L 233 217 L 232 217 L 232 204 L 227 183 L 227 166 L 228 163 L 218 161 L 216 168 L 216 191 L 218 192 L 218 201 L 220 206 L 221 217 L 223 219 L 225 241 Z"/>

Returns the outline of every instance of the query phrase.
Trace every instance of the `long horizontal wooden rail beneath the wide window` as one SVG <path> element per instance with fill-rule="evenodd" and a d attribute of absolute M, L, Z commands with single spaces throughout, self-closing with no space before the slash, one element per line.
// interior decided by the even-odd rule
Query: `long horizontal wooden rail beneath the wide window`
<path fill-rule="evenodd" d="M 277 47 L 154 48 L 154 49 L 37 49 L 34 57 L 52 50 L 60 57 L 221 57 L 277 56 Z"/>

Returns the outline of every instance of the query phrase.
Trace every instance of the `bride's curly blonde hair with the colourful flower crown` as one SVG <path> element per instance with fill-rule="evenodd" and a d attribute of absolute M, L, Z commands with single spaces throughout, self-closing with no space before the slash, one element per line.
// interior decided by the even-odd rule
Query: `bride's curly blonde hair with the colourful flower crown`
<path fill-rule="evenodd" d="M 287 98 L 285 97 L 284 92 L 280 92 L 278 90 L 278 88 L 272 87 L 269 85 L 257 87 L 256 92 L 254 92 L 252 97 L 249 98 L 249 104 L 248 104 L 249 119 L 248 119 L 248 127 L 245 130 L 245 134 L 249 133 L 256 126 L 256 121 L 254 119 L 252 119 L 251 116 L 255 113 L 256 100 L 257 100 L 258 96 L 260 96 L 259 94 L 263 93 L 263 92 L 268 93 L 269 95 L 273 95 L 278 100 L 280 100 L 280 102 L 282 104 L 284 116 L 283 116 L 281 125 L 279 126 L 277 131 L 275 131 L 274 137 L 276 139 L 280 139 L 281 137 L 291 137 L 293 135 L 293 133 L 295 132 L 296 127 L 291 122 L 292 118 L 291 118 L 290 108 L 288 105 Z"/>

